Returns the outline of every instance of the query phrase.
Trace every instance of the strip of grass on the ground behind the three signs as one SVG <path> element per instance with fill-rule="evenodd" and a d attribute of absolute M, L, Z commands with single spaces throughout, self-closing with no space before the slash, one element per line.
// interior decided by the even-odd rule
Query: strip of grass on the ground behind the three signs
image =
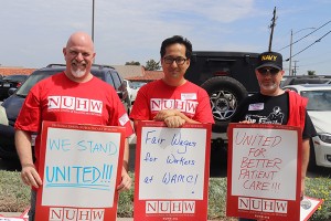
<path fill-rule="evenodd" d="M 134 179 L 134 175 L 130 173 Z M 20 172 L 0 170 L 0 211 L 23 212 L 29 207 L 30 188 L 22 183 Z M 310 221 L 331 220 L 331 179 L 307 178 L 306 194 L 323 199 L 323 204 L 312 215 Z M 226 178 L 210 179 L 209 219 L 237 220 L 226 218 Z M 134 214 L 134 188 L 120 193 L 118 217 L 130 218 Z"/>

